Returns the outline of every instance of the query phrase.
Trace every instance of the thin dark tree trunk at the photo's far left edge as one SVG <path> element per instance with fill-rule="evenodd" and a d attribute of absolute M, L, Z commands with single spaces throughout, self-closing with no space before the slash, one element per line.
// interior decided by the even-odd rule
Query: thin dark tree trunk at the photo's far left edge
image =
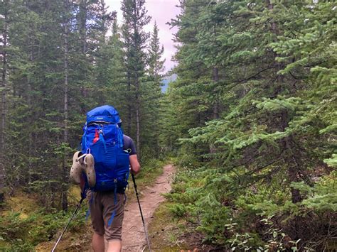
<path fill-rule="evenodd" d="M 8 1 L 6 1 L 6 5 Z M 0 122 L 0 204 L 4 203 L 5 187 L 5 166 L 4 166 L 4 148 L 5 148 L 5 128 L 6 128 L 6 74 L 7 74 L 7 32 L 8 32 L 8 15 L 5 11 L 4 30 L 2 32 L 2 76 L 1 76 L 1 122 Z"/>

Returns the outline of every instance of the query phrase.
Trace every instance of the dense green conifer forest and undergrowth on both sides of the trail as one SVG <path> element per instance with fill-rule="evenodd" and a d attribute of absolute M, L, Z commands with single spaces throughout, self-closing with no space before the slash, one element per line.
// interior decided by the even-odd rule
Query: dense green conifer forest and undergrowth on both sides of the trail
<path fill-rule="evenodd" d="M 85 113 L 104 104 L 137 145 L 140 181 L 176 167 L 169 241 L 336 250 L 336 2 L 172 1 L 170 71 L 145 0 L 121 2 L 119 23 L 104 0 L 0 0 L 0 250 L 57 239 Z M 31 216 L 9 211 L 16 195 L 36 200 Z"/>

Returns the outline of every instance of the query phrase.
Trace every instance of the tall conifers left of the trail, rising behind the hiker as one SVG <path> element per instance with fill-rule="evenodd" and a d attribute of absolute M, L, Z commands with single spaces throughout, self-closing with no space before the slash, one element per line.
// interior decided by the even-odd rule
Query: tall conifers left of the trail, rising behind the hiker
<path fill-rule="evenodd" d="M 156 27 L 151 51 L 155 56 L 151 63 L 147 61 L 149 34 L 142 27 L 151 17 L 140 15 L 139 26 L 132 30 L 132 16 L 127 17 L 127 12 L 139 6 L 146 12 L 144 1 L 137 1 L 137 6 L 133 3 L 125 1 L 124 24 L 118 26 L 116 13 L 107 11 L 104 1 L 1 1 L 1 27 L 8 25 L 6 155 L 1 160 L 1 175 L 6 178 L 8 195 L 13 195 L 18 187 L 26 192 L 43 191 L 40 201 L 47 210 L 66 211 L 68 171 L 72 155 L 80 145 L 85 113 L 102 104 L 116 106 L 124 121 L 124 131 L 136 143 L 144 143 L 137 146 L 138 153 L 144 150 L 144 163 L 158 157 L 159 148 L 154 143 L 158 143 L 159 130 L 151 130 L 150 122 L 159 125 L 163 49 Z M 133 34 L 134 44 L 127 44 L 125 33 Z M 137 55 L 131 57 L 134 52 Z M 132 78 L 137 75 L 137 83 L 136 79 L 129 83 L 135 62 L 140 67 L 132 73 Z M 150 65 L 158 67 L 156 80 L 151 82 L 147 80 Z M 1 67 L 3 70 L 4 66 Z M 138 80 L 141 89 L 136 93 L 134 88 L 128 89 L 128 84 L 136 87 Z M 154 93 L 154 89 L 159 92 Z M 150 93 L 156 96 L 151 106 L 144 102 Z M 134 102 L 130 102 L 136 95 L 141 97 L 139 139 Z"/>

